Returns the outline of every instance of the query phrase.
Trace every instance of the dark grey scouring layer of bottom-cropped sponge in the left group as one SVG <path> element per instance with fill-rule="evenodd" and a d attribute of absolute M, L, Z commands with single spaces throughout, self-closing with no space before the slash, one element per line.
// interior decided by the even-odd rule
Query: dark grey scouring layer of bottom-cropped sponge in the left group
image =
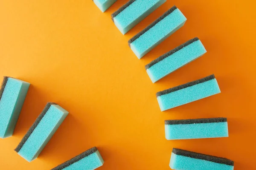
<path fill-rule="evenodd" d="M 90 148 L 89 150 L 86 150 L 85 152 L 83 152 L 80 155 L 70 159 L 69 161 L 66 161 L 63 164 L 58 165 L 57 167 L 53 168 L 52 170 L 62 170 L 65 167 L 68 167 L 71 164 L 85 158 L 86 156 L 89 156 L 90 154 L 95 153 L 97 150 L 98 150 L 97 147 Z"/>

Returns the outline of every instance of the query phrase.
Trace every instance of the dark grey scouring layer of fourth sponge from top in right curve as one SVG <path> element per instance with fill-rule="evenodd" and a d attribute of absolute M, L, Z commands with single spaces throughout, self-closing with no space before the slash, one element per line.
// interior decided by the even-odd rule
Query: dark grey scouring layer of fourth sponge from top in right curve
<path fill-rule="evenodd" d="M 170 55 L 176 53 L 177 51 L 181 50 L 182 48 L 188 46 L 189 44 L 192 44 L 193 42 L 195 41 L 198 41 L 199 38 L 198 37 L 195 37 L 191 40 L 188 40 L 187 42 L 185 42 L 184 44 L 181 44 L 180 46 L 174 48 L 173 50 L 167 52 L 166 54 L 163 54 L 162 56 L 158 57 L 157 59 L 151 61 L 149 64 L 145 65 L 145 69 L 148 69 L 150 68 L 151 66 L 153 66 L 154 64 L 156 64 L 157 62 L 160 62 L 162 61 L 163 59 L 169 57 Z"/>

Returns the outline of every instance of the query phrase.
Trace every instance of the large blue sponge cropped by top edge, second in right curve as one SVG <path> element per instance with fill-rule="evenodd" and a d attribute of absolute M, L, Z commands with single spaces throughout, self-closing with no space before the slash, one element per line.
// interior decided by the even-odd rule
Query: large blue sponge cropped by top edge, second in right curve
<path fill-rule="evenodd" d="M 165 2 L 166 0 L 129 0 L 111 17 L 116 27 L 125 34 Z"/>

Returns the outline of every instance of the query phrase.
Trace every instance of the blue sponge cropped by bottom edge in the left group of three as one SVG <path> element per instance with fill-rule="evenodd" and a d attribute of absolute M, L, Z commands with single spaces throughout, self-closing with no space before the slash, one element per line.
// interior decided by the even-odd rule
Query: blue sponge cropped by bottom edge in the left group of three
<path fill-rule="evenodd" d="M 97 147 L 93 147 L 52 170 L 95 170 L 102 166 L 103 163 L 99 150 Z"/>

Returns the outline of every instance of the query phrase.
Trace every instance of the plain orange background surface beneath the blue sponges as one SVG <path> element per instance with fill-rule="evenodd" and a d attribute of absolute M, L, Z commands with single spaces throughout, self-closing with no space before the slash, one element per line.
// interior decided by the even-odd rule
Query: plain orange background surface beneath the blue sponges
<path fill-rule="evenodd" d="M 255 167 L 255 3 L 168 0 L 127 34 L 92 0 L 1 0 L 0 77 L 30 82 L 12 137 L 0 139 L 0 169 L 49 170 L 97 146 L 99 170 L 169 170 L 173 147 Z M 254 3 L 254 4 L 253 4 Z M 175 34 L 137 59 L 128 40 L 176 5 L 187 17 Z M 152 84 L 144 66 L 193 37 L 207 54 Z M 222 93 L 161 112 L 155 93 L 215 74 Z M 14 148 L 47 102 L 70 112 L 38 159 Z M 167 141 L 164 120 L 227 117 L 228 138 Z"/>

